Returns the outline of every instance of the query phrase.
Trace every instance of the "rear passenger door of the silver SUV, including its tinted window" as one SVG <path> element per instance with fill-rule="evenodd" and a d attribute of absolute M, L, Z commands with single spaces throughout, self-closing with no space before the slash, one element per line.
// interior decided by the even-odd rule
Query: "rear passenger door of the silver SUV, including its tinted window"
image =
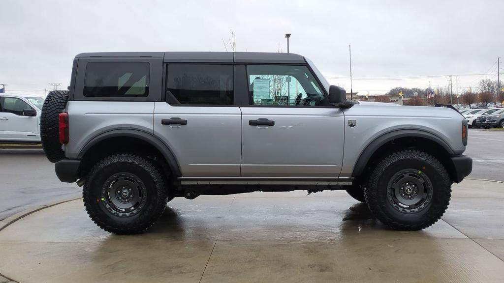
<path fill-rule="evenodd" d="M 172 150 L 182 177 L 240 175 L 241 112 L 232 64 L 170 63 L 154 135 Z"/>

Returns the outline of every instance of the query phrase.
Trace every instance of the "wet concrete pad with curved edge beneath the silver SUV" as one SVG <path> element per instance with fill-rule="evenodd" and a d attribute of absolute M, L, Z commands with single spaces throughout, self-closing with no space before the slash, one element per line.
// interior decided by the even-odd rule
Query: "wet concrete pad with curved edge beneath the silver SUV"
<path fill-rule="evenodd" d="M 178 198 L 149 232 L 117 236 L 82 200 L 0 231 L 22 282 L 502 282 L 504 183 L 455 184 L 443 220 L 391 231 L 344 191 Z"/>

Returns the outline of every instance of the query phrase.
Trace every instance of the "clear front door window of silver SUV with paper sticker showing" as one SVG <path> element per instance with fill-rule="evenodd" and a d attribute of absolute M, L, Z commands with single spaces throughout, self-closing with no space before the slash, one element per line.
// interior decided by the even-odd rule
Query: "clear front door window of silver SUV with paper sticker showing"
<path fill-rule="evenodd" d="M 325 105 L 322 88 L 306 66 L 248 65 L 247 74 L 254 105 Z"/>

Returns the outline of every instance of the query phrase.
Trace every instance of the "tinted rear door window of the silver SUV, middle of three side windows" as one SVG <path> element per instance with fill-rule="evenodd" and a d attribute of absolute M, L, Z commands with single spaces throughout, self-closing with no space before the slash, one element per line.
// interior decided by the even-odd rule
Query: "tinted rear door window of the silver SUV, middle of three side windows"
<path fill-rule="evenodd" d="M 208 64 L 168 65 L 167 100 L 180 104 L 233 104 L 233 66 Z"/>

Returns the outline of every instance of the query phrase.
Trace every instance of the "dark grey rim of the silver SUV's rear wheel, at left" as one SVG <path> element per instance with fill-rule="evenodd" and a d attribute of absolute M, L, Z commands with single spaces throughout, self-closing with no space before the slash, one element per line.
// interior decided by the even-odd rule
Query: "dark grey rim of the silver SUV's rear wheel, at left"
<path fill-rule="evenodd" d="M 135 174 L 121 172 L 110 176 L 101 190 L 101 200 L 113 215 L 129 217 L 145 206 L 147 189 Z"/>

